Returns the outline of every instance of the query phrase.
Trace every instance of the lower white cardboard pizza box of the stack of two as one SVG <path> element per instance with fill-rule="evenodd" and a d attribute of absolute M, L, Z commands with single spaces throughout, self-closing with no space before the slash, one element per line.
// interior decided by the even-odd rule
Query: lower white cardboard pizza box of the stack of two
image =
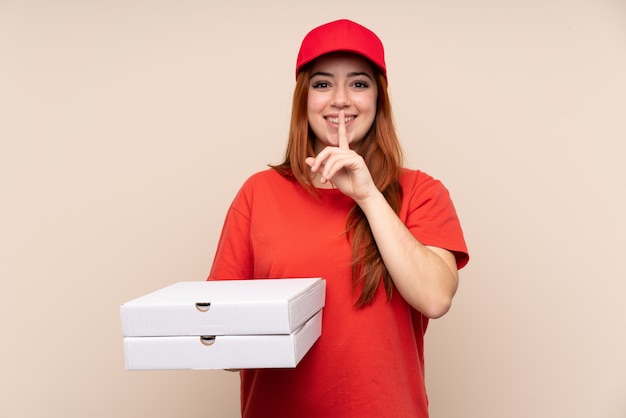
<path fill-rule="evenodd" d="M 126 370 L 296 367 L 321 331 L 322 310 L 286 335 L 125 337 Z"/>

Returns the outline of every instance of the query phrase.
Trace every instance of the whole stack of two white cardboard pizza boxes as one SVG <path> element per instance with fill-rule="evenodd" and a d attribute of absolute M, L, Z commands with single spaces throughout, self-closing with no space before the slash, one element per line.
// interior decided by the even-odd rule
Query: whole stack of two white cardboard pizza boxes
<path fill-rule="evenodd" d="M 325 297 L 322 278 L 174 283 L 120 307 L 126 369 L 296 367 Z"/>

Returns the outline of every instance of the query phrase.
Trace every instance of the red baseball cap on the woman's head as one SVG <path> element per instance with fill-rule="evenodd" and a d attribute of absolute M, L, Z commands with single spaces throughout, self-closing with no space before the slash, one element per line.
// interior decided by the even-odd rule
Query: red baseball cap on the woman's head
<path fill-rule="evenodd" d="M 324 54 L 339 51 L 369 59 L 387 78 L 383 43 L 374 32 L 348 19 L 325 23 L 304 37 L 296 61 L 296 77 L 305 64 Z"/>

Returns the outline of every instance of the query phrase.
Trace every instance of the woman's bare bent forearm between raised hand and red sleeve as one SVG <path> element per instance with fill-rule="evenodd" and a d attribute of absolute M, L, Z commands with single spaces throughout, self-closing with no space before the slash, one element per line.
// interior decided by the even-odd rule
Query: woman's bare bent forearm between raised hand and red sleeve
<path fill-rule="evenodd" d="M 394 285 L 415 309 L 430 318 L 444 315 L 458 286 L 454 255 L 420 243 L 379 192 L 357 201 Z"/>

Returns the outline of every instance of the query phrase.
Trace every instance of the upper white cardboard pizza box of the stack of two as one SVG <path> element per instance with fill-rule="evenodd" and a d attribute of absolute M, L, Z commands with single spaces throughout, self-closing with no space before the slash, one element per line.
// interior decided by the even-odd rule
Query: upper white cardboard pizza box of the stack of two
<path fill-rule="evenodd" d="M 321 278 L 178 282 L 120 308 L 124 337 L 291 334 L 325 304 Z"/>

